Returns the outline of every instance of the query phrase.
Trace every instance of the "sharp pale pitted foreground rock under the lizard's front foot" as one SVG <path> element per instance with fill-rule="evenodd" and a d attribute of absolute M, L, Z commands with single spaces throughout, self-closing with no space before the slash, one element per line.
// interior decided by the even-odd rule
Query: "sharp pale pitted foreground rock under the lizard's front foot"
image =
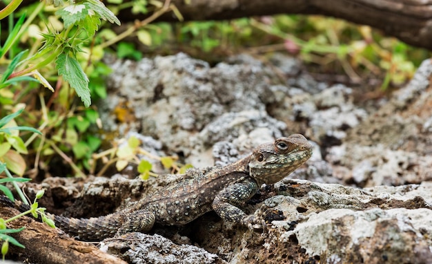
<path fill-rule="evenodd" d="M 235 229 L 229 263 L 430 263 L 432 182 L 361 190 L 286 179 L 270 192 L 279 195 L 255 214 L 282 211 L 286 219 L 262 234 Z M 220 228 L 204 235 L 216 240 L 204 248 L 223 256 L 215 245 L 236 238 Z"/>

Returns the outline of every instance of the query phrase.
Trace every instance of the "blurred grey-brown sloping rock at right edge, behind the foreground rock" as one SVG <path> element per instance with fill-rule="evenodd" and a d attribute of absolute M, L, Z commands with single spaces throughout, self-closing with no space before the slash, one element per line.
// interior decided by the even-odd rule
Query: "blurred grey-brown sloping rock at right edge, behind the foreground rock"
<path fill-rule="evenodd" d="M 327 149 L 326 160 L 345 168 L 335 177 L 360 187 L 432 180 L 431 74 L 427 59 L 409 84 Z"/>

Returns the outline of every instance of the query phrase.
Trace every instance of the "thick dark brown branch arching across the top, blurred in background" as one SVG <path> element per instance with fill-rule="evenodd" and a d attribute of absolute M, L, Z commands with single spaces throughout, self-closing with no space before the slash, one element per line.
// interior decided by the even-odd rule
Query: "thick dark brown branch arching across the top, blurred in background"
<path fill-rule="evenodd" d="M 386 35 L 432 50 L 432 0 L 172 0 L 186 21 L 239 17 L 303 14 L 325 15 L 372 26 Z M 144 19 L 130 10 L 119 13 L 121 21 Z M 175 21 L 173 14 L 161 17 Z"/>

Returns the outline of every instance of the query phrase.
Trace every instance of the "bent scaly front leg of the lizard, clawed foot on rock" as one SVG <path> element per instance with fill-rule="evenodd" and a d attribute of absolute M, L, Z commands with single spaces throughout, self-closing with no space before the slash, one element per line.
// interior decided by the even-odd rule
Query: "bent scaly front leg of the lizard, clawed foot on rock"
<path fill-rule="evenodd" d="M 219 191 L 213 200 L 213 210 L 224 220 L 244 223 L 246 214 L 236 205 L 245 202 L 257 193 L 258 185 L 252 178 L 246 178 L 244 181 L 229 185 Z"/>

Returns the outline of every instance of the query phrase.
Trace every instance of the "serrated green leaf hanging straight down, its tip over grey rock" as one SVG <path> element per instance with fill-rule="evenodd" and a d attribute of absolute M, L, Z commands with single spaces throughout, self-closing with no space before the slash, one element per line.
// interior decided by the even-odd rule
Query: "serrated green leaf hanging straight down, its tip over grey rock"
<path fill-rule="evenodd" d="M 62 53 L 55 63 L 57 70 L 59 70 L 59 75 L 63 75 L 66 82 L 75 89 L 81 101 L 84 102 L 84 106 L 90 106 L 91 100 L 90 89 L 88 88 L 88 77 L 77 60 Z"/>

